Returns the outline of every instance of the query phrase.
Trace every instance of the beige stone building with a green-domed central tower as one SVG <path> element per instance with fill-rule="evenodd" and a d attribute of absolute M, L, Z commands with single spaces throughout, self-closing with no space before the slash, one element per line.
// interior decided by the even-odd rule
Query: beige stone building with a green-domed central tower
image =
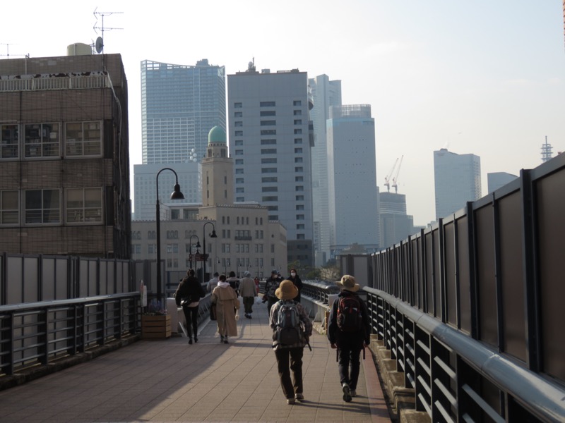
<path fill-rule="evenodd" d="M 195 255 L 197 250 L 204 253 L 205 237 L 206 281 L 214 271 L 232 270 L 242 275 L 249 270 L 260 278 L 269 276 L 272 269 L 285 274 L 286 228 L 279 221 L 269 219 L 267 207 L 256 202 L 233 201 L 234 159 L 228 157 L 226 134 L 222 128 L 210 130 L 206 157 L 201 166 L 201 204 L 177 204 L 165 200 L 160 207 L 161 257 L 165 260 L 167 283 L 176 286 L 177 276 L 191 266 L 196 267 L 198 275 L 203 277 L 200 270 L 203 263 L 191 261 L 190 254 Z M 170 183 L 163 197 L 167 197 L 172 189 L 173 183 Z M 181 191 L 184 193 L 182 185 Z M 159 195 L 162 197 L 161 190 Z M 213 229 L 218 238 L 210 238 Z M 156 259 L 155 217 L 151 221 L 132 222 L 131 243 L 133 259 Z"/>

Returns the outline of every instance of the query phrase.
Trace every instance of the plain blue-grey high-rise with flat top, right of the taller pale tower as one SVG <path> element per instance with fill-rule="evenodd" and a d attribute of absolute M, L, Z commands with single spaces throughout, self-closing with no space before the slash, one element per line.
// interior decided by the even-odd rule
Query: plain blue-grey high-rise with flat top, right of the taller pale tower
<path fill-rule="evenodd" d="M 354 243 L 367 252 L 378 250 L 375 124 L 369 104 L 330 109 L 328 192 L 331 258 Z"/>

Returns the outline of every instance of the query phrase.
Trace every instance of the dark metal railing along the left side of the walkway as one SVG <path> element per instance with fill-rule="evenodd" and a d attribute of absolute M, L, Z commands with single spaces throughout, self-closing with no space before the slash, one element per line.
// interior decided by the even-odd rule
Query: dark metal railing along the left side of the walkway
<path fill-rule="evenodd" d="M 139 293 L 0 306 L 0 373 L 12 375 L 136 332 Z"/>

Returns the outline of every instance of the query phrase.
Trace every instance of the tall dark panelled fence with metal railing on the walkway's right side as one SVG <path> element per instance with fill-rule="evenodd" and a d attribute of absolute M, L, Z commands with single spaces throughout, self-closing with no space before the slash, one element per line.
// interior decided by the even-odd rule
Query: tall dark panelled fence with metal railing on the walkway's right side
<path fill-rule="evenodd" d="M 374 333 L 434 422 L 565 419 L 564 192 L 561 154 L 361 265 Z"/>

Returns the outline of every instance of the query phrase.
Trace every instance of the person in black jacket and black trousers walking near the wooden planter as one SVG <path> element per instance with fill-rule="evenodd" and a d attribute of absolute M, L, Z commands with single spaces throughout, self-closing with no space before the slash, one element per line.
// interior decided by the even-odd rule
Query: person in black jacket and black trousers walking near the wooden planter
<path fill-rule="evenodd" d="M 186 276 L 180 281 L 177 290 L 174 292 L 174 300 L 177 302 L 177 307 L 182 306 L 189 344 L 192 344 L 193 332 L 194 342 L 198 342 L 198 304 L 205 295 L 204 288 L 195 276 L 194 270 L 186 271 Z"/>

